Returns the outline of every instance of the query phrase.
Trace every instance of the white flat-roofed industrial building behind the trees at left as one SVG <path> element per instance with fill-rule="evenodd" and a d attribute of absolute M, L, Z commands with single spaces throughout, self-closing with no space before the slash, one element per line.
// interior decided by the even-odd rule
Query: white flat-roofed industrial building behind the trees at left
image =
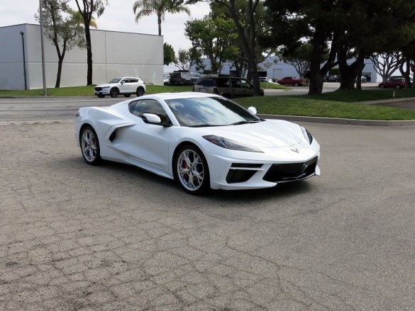
<path fill-rule="evenodd" d="M 40 25 L 21 24 L 0 27 L 0 89 L 25 89 L 23 44 L 27 89 L 42 89 Z M 55 87 L 57 52 L 44 38 L 47 87 Z M 91 30 L 92 81 L 108 82 L 114 77 L 140 77 L 147 84 L 163 84 L 163 38 L 159 35 Z M 87 50 L 74 47 L 65 54 L 60 86 L 87 84 Z"/>

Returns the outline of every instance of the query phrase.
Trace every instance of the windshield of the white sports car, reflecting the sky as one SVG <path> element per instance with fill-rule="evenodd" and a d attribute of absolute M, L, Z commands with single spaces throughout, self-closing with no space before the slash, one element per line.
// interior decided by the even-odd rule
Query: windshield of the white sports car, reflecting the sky
<path fill-rule="evenodd" d="M 261 120 L 225 98 L 175 98 L 167 99 L 166 103 L 182 126 L 223 126 L 255 123 Z"/>

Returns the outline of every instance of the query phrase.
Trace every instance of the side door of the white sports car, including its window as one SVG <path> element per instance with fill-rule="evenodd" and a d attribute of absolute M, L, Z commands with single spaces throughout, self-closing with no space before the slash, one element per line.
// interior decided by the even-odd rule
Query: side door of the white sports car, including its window
<path fill-rule="evenodd" d="M 170 123 L 164 108 L 158 101 L 143 99 L 131 102 L 129 110 L 136 124 L 117 132 L 118 149 L 129 154 L 134 161 L 168 172 L 172 128 L 146 123 L 143 119 L 144 113 L 153 113 L 160 117 L 162 123 Z"/>

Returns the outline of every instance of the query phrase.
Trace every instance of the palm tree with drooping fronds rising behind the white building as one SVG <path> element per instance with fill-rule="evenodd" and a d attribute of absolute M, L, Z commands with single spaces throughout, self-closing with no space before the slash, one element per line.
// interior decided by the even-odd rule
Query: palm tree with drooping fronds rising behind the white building
<path fill-rule="evenodd" d="M 190 15 L 187 6 L 175 4 L 175 0 L 137 0 L 134 2 L 133 11 L 135 14 L 135 23 L 143 16 L 157 14 L 158 35 L 161 35 L 161 23 L 165 20 L 166 13 L 186 12 Z"/>

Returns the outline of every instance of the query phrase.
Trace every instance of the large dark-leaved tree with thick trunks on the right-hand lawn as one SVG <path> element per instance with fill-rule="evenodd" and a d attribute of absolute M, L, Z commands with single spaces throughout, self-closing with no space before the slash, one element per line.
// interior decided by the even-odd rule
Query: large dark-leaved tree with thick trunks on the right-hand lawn
<path fill-rule="evenodd" d="M 309 39 L 313 46 L 309 94 L 321 94 L 323 77 L 335 64 L 341 72 L 341 89 L 353 89 L 365 57 L 395 50 L 411 38 L 414 5 L 412 0 L 265 0 L 272 27 L 268 38 L 288 50 Z M 328 58 L 321 66 L 327 47 Z M 349 64 L 351 57 L 355 61 Z"/>

